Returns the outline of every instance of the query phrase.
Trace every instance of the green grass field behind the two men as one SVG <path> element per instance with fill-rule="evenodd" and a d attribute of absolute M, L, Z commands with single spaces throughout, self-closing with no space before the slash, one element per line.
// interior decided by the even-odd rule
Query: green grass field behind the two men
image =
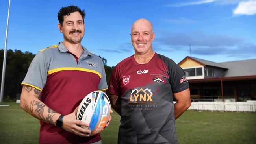
<path fill-rule="evenodd" d="M 16 103 L 0 103 L 0 143 L 36 144 L 39 120 Z M 117 144 L 120 116 L 112 114 L 110 125 L 101 133 L 103 144 Z M 180 144 L 256 144 L 256 114 L 186 111 L 176 120 Z"/>

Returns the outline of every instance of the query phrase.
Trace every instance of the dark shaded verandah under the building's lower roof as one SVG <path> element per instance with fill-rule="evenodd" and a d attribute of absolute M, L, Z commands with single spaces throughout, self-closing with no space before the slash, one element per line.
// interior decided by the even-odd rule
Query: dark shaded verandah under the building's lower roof
<path fill-rule="evenodd" d="M 256 76 L 190 79 L 192 101 L 256 100 Z"/>

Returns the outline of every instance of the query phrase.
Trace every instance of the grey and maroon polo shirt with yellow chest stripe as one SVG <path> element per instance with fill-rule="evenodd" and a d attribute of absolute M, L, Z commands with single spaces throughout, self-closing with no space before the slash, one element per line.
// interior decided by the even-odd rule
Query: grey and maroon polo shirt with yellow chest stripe
<path fill-rule="evenodd" d="M 22 85 L 41 90 L 41 101 L 63 115 L 72 113 L 90 92 L 108 88 L 102 59 L 85 47 L 77 58 L 62 42 L 37 53 Z M 41 105 L 34 103 L 39 106 L 35 111 L 40 111 Z M 92 143 L 100 140 L 100 135 L 83 138 L 42 121 L 40 124 L 39 142 L 42 144 Z"/>

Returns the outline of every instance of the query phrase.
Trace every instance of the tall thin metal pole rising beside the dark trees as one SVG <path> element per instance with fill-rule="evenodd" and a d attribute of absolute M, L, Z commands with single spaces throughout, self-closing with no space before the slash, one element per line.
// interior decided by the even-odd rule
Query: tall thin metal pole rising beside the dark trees
<path fill-rule="evenodd" d="M 5 72 L 6 72 L 6 47 L 7 47 L 7 36 L 8 36 L 10 4 L 11 4 L 11 0 L 9 0 L 9 8 L 8 8 L 8 16 L 7 16 L 7 25 L 6 25 L 6 42 L 5 42 L 5 44 L 4 44 L 4 60 L 3 60 L 3 71 L 2 71 L 2 81 L 1 81 L 0 102 L 3 102 L 3 100 L 4 100 L 4 77 L 5 77 Z"/>

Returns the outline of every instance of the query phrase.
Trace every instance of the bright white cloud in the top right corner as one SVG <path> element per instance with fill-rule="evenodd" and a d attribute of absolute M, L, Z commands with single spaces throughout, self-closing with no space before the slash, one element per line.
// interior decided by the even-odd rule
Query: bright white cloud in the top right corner
<path fill-rule="evenodd" d="M 240 2 L 239 6 L 234 9 L 234 15 L 254 15 L 256 14 L 256 0 Z"/>

